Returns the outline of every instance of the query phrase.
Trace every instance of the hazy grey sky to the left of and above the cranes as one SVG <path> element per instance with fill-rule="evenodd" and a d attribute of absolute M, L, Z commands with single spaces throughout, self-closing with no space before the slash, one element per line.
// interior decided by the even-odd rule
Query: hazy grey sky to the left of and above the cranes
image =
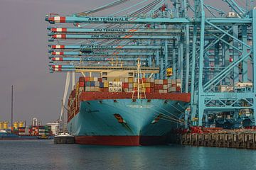
<path fill-rule="evenodd" d="M 47 13 L 77 13 L 113 0 L 0 0 L 0 121 L 58 118 L 65 74 L 48 72 Z M 211 1 L 219 6 L 221 0 Z"/>

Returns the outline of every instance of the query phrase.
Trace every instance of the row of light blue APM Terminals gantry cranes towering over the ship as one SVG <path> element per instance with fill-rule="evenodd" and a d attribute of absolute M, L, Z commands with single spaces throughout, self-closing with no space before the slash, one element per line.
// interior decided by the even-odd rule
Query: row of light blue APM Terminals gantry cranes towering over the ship
<path fill-rule="evenodd" d="M 221 1 L 215 7 L 207 0 L 144 0 L 92 16 L 129 2 L 119 0 L 70 16 L 48 14 L 50 72 L 113 61 L 134 66 L 139 57 L 144 67 L 159 67 L 156 79 L 172 68 L 168 79 L 182 80 L 181 91 L 191 93 L 188 124 L 255 125 L 256 8 L 253 0 Z"/>

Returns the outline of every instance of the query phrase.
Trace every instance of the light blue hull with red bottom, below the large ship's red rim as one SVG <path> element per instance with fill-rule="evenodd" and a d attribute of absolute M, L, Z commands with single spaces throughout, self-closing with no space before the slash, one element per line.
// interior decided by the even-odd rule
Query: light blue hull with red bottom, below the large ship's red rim
<path fill-rule="evenodd" d="M 87 145 L 156 145 L 178 128 L 188 103 L 165 99 L 81 101 L 68 123 L 75 141 Z"/>

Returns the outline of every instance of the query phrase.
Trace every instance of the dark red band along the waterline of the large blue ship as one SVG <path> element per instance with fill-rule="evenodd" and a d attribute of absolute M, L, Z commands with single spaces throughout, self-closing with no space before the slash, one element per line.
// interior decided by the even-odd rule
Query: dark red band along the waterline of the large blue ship
<path fill-rule="evenodd" d="M 82 145 L 164 145 L 167 143 L 165 136 L 77 136 L 75 143 Z"/>

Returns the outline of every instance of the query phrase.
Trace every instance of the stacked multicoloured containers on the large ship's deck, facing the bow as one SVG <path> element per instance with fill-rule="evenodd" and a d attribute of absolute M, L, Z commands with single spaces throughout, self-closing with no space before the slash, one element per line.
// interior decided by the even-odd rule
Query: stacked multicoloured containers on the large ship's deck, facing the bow
<path fill-rule="evenodd" d="M 76 85 L 76 94 L 80 92 L 136 92 L 138 81 L 133 77 L 117 78 L 105 81 L 97 77 L 80 77 Z M 139 79 L 139 91 L 146 93 L 181 92 L 181 79 Z M 75 96 L 75 91 L 71 96 Z"/>

